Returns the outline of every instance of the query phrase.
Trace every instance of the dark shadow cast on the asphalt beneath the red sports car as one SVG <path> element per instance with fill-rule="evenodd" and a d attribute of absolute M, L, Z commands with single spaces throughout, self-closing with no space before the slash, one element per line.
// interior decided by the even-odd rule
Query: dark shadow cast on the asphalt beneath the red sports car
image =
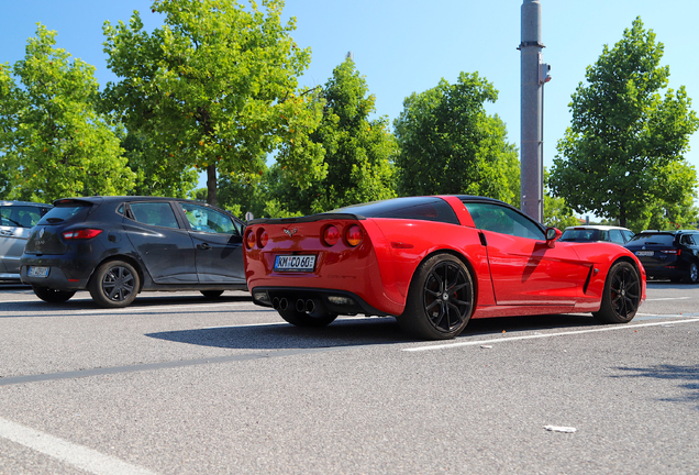
<path fill-rule="evenodd" d="M 452 341 L 564 328 L 599 325 L 591 316 L 536 316 L 475 319 Z M 288 350 L 312 347 L 344 347 L 419 342 L 404 333 L 393 318 L 337 319 L 323 328 L 293 327 L 279 323 L 219 327 L 148 333 L 159 340 L 223 349 Z"/>

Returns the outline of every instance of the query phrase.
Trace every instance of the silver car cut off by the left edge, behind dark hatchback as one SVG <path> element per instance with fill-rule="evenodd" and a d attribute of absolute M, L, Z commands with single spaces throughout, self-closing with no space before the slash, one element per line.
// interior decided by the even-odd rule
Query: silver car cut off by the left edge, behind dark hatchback
<path fill-rule="evenodd" d="M 51 205 L 0 201 L 0 281 L 20 281 L 20 257 L 30 230 Z"/>

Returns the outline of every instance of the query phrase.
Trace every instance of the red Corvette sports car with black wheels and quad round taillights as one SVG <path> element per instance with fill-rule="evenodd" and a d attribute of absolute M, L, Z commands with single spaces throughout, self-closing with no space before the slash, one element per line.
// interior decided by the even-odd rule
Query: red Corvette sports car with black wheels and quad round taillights
<path fill-rule="evenodd" d="M 471 318 L 592 312 L 603 323 L 631 321 L 645 299 L 636 257 L 559 236 L 490 198 L 396 198 L 251 221 L 245 276 L 255 303 L 301 327 L 393 316 L 407 332 L 437 340 Z"/>

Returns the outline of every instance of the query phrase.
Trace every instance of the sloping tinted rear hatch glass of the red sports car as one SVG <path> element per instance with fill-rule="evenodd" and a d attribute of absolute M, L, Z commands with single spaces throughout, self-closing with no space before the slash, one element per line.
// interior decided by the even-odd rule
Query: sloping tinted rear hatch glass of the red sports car
<path fill-rule="evenodd" d="M 398 198 L 341 208 L 331 212 L 350 212 L 365 218 L 395 218 L 459 224 L 452 207 L 442 198 Z"/>

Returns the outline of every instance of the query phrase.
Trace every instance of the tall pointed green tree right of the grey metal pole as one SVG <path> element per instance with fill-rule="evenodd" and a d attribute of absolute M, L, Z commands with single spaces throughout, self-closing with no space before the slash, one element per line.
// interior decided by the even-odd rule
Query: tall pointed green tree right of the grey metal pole
<path fill-rule="evenodd" d="M 637 222 L 657 202 L 694 194 L 696 172 L 685 164 L 699 126 L 685 87 L 668 85 L 663 44 L 641 19 L 586 71 L 573 93 L 573 121 L 558 141 L 551 187 L 577 212 Z"/>

